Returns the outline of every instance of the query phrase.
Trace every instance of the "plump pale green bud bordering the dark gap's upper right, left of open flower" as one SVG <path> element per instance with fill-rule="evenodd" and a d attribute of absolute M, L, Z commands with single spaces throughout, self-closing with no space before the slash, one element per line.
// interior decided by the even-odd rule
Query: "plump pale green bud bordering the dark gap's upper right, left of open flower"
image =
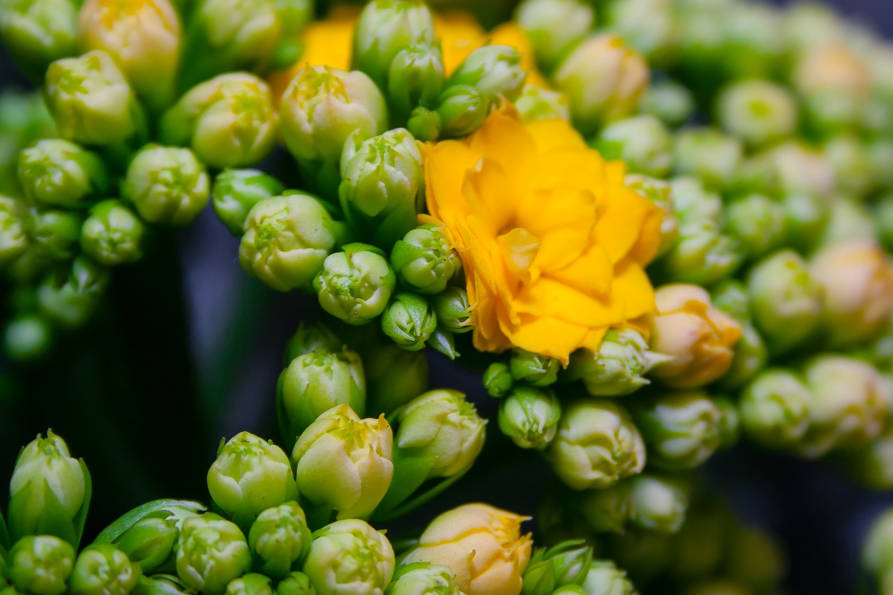
<path fill-rule="evenodd" d="M 302 192 L 263 198 L 245 222 L 238 260 L 248 274 L 272 289 L 309 290 L 323 263 L 344 239 L 344 223 L 321 201 Z"/>

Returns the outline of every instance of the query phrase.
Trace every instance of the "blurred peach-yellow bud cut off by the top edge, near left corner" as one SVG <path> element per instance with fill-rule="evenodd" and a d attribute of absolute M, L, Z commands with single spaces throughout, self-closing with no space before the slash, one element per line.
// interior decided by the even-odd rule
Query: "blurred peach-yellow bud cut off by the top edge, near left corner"
<path fill-rule="evenodd" d="M 174 98 L 182 32 L 171 0 L 86 0 L 78 34 L 82 49 L 103 50 L 114 58 L 151 109 Z"/>

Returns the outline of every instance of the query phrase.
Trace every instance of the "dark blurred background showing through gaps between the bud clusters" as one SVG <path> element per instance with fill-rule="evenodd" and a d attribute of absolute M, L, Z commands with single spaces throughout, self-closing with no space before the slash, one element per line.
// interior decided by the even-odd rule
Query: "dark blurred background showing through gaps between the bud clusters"
<path fill-rule="evenodd" d="M 891 0 L 831 4 L 893 37 Z M 0 46 L 0 88 L 12 87 L 28 85 Z M 284 156 L 273 161 L 288 170 Z M 153 244 L 144 262 L 115 271 L 108 306 L 88 329 L 60 337 L 48 363 L 0 362 L 0 478 L 9 477 L 21 445 L 52 427 L 93 470 L 85 538 L 149 499 L 205 501 L 204 474 L 222 436 L 276 436 L 282 347 L 300 320 L 318 314 L 314 300 L 249 279 L 238 265 L 238 241 L 210 209 L 188 230 L 159 232 Z M 430 385 L 466 390 L 483 415 L 495 414 L 478 375 L 436 354 Z M 893 495 L 746 445 L 714 457 L 707 473 L 739 515 L 783 541 L 790 592 L 855 591 L 864 532 L 893 506 Z M 547 483 L 531 481 L 538 477 L 547 477 L 538 458 L 512 448 L 492 426 L 472 473 L 410 520 L 424 523 L 469 499 L 532 514 Z"/>

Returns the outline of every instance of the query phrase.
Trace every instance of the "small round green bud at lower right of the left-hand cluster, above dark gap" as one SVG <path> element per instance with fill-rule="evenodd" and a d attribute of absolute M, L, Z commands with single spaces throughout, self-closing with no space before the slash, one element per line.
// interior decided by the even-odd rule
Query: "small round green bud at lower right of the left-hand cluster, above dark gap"
<path fill-rule="evenodd" d="M 99 264 L 132 263 L 142 256 L 143 223 L 115 199 L 90 209 L 80 229 L 80 247 Z"/>

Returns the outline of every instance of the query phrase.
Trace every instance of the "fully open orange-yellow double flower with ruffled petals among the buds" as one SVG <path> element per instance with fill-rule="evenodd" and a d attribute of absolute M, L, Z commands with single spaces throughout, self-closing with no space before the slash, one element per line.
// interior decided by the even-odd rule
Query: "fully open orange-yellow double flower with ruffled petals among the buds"
<path fill-rule="evenodd" d="M 563 120 L 493 113 L 461 141 L 426 147 L 430 214 L 462 257 L 474 344 L 568 361 L 650 313 L 643 267 L 663 212 L 623 185 Z"/>

